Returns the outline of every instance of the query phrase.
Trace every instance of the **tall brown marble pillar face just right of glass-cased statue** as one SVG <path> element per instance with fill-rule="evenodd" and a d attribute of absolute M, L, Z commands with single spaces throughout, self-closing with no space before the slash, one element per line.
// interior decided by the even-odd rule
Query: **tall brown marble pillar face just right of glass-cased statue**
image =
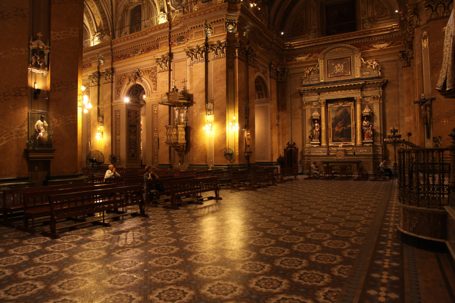
<path fill-rule="evenodd" d="M 50 174 L 77 173 L 77 94 L 82 73 L 83 5 L 54 1 L 50 9 L 49 110 L 57 144 Z"/>

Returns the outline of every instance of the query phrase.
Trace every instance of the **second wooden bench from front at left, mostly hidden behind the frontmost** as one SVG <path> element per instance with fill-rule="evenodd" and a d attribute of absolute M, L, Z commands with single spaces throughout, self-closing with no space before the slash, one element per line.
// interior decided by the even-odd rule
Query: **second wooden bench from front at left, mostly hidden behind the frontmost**
<path fill-rule="evenodd" d="M 35 233 L 35 223 L 48 221 L 46 219 L 35 220 L 36 218 L 49 216 L 49 199 L 51 195 L 58 194 L 67 194 L 67 193 L 76 193 L 80 191 L 90 191 L 95 189 L 105 189 L 105 188 L 114 188 L 115 184 L 100 184 L 100 185 L 91 185 L 84 187 L 75 187 L 75 188 L 63 188 L 63 189 L 54 189 L 49 191 L 40 191 L 40 192 L 29 192 L 24 194 L 24 203 L 22 205 L 23 215 L 23 225 L 16 225 L 16 229 Z M 39 212 L 35 209 L 42 209 L 42 212 Z M 30 212 L 30 210 L 34 210 Z M 30 220 L 32 220 L 32 226 L 30 226 Z"/>

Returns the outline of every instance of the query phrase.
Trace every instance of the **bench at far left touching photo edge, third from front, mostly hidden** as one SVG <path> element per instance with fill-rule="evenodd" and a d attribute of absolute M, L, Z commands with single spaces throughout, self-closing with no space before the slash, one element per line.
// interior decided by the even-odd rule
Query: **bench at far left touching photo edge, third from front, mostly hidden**
<path fill-rule="evenodd" d="M 22 212 L 22 207 L 24 204 L 24 194 L 28 192 L 46 192 L 54 189 L 63 189 L 63 188 L 77 188 L 93 185 L 91 182 L 85 183 L 74 183 L 74 184 L 60 184 L 60 185 L 49 185 L 49 186 L 39 186 L 39 187 L 27 187 L 20 189 L 7 189 L 3 190 L 3 206 L 2 214 L 3 218 L 1 224 L 6 226 L 14 227 L 14 214 L 17 212 Z M 22 214 L 21 214 L 22 215 Z"/>

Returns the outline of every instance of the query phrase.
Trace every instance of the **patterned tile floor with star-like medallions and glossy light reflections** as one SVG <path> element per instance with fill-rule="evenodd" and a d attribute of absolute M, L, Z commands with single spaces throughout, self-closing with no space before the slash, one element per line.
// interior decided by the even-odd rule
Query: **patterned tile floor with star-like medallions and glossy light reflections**
<path fill-rule="evenodd" d="M 423 302 L 412 264 L 403 286 L 395 182 L 221 196 L 57 240 L 0 227 L 0 302 Z"/>

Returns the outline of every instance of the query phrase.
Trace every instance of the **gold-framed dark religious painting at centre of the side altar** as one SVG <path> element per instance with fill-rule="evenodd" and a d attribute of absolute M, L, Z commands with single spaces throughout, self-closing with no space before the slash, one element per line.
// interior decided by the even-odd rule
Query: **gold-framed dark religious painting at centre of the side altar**
<path fill-rule="evenodd" d="M 329 145 L 354 145 L 355 121 L 354 102 L 338 100 L 328 104 L 329 122 Z"/>

